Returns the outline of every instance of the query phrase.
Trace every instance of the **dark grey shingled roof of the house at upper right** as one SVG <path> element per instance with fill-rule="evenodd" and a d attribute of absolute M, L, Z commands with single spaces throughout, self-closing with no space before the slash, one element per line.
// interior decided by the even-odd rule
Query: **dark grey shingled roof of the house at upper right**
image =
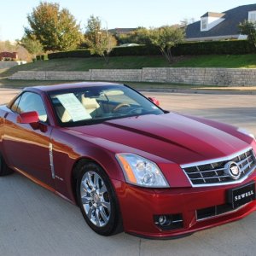
<path fill-rule="evenodd" d="M 238 25 L 243 20 L 248 19 L 249 11 L 256 11 L 256 4 L 248 4 L 238 6 L 234 9 L 224 11 L 222 17 L 224 20 L 220 22 L 217 26 L 213 26 L 212 29 L 208 31 L 201 32 L 201 20 L 189 24 L 186 29 L 186 38 L 214 38 L 214 37 L 224 37 L 230 35 L 238 35 L 239 29 Z M 212 14 L 212 13 L 207 13 Z M 207 15 L 206 14 L 206 15 Z M 205 16 L 205 15 L 203 15 Z"/>

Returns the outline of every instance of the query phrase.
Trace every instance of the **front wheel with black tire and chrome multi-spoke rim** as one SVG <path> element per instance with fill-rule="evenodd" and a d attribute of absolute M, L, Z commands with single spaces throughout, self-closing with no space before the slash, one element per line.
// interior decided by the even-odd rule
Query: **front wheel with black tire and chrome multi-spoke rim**
<path fill-rule="evenodd" d="M 102 236 L 119 233 L 119 205 L 106 172 L 93 162 L 85 163 L 78 171 L 77 196 L 86 223 Z"/>

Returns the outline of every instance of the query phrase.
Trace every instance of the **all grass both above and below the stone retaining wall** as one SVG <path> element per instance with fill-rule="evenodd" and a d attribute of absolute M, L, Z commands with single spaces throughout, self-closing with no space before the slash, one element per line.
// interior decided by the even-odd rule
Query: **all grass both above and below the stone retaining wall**
<path fill-rule="evenodd" d="M 256 68 L 256 55 L 198 55 L 177 57 L 170 65 L 162 56 L 122 56 L 111 57 L 107 64 L 102 58 L 71 58 L 50 61 L 36 61 L 26 65 L 0 69 L 0 87 L 21 88 L 38 84 L 64 84 L 70 81 L 22 81 L 9 80 L 17 71 L 88 71 L 89 69 L 137 69 L 143 67 L 228 67 Z M 127 83 L 137 89 L 200 89 L 206 86 L 189 84 Z M 212 86 L 207 86 L 211 89 Z M 213 88 L 212 88 L 213 89 Z"/>

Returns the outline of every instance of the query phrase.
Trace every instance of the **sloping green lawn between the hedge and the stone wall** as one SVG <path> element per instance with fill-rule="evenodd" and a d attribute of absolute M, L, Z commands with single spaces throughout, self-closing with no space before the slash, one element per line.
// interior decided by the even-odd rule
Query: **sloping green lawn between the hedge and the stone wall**
<path fill-rule="evenodd" d="M 256 55 L 198 55 L 174 58 L 169 64 L 162 56 L 122 56 L 111 57 L 106 63 L 100 57 L 69 58 L 36 61 L 6 70 L 0 70 L 0 79 L 7 78 L 20 70 L 33 71 L 88 71 L 89 69 L 127 69 L 143 67 L 230 67 L 256 68 Z"/>

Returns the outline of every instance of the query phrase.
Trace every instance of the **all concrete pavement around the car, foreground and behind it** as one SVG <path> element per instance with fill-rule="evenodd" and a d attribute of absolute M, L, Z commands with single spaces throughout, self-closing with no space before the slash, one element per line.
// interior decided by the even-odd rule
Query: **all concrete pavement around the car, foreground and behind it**
<path fill-rule="evenodd" d="M 17 91 L 0 90 L 0 104 Z M 256 135 L 255 96 L 145 93 L 162 108 L 216 119 Z M 75 207 L 20 174 L 0 178 L 0 255 L 255 255 L 256 212 L 176 240 L 96 235 Z"/>

